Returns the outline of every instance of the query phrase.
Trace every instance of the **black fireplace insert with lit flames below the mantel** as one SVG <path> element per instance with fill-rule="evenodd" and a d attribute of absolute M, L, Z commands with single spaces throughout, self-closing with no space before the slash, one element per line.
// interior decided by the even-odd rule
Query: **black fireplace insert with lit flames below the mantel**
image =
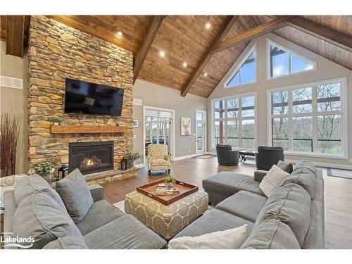
<path fill-rule="evenodd" d="M 68 144 L 68 170 L 78 168 L 83 175 L 113 170 L 113 142 Z"/>

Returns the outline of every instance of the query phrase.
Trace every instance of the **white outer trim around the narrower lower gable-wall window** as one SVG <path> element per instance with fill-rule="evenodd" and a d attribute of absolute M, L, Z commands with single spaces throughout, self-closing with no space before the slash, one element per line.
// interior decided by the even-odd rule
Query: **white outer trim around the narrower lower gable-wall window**
<path fill-rule="evenodd" d="M 220 100 L 227 100 L 227 99 L 233 99 L 233 98 L 239 98 L 239 97 L 246 97 L 246 96 L 254 96 L 254 118 L 253 117 L 243 117 L 241 120 L 246 120 L 246 119 L 254 119 L 254 149 L 257 149 L 258 146 L 258 124 L 257 124 L 257 92 L 249 92 L 245 94 L 234 94 L 231 96 L 222 96 L 218 98 L 212 98 L 210 99 L 210 151 L 215 149 L 215 142 L 214 142 L 214 101 L 220 101 Z M 241 131 L 239 131 L 239 135 L 241 134 Z M 225 130 L 225 137 L 227 137 L 227 132 Z"/>

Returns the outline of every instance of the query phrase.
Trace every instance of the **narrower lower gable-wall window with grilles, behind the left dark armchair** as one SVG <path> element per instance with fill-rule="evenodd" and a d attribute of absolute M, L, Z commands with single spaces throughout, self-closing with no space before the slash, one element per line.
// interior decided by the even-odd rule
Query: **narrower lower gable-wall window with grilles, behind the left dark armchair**
<path fill-rule="evenodd" d="M 256 147 L 256 96 L 236 96 L 213 101 L 213 146 L 228 144 L 234 149 Z"/>

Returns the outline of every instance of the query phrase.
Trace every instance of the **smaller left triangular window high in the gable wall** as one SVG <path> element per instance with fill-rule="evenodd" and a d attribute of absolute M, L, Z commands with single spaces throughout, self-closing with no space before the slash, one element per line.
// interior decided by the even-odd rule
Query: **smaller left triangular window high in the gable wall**
<path fill-rule="evenodd" d="M 225 84 L 226 88 L 256 82 L 256 49 L 253 47 Z"/>

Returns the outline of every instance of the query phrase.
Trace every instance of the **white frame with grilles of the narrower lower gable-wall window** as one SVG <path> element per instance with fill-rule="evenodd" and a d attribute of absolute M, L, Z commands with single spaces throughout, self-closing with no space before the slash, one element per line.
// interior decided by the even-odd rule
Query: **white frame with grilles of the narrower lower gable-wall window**
<path fill-rule="evenodd" d="M 227 103 L 225 103 L 225 111 L 224 111 L 224 116 L 225 118 L 215 118 L 215 108 L 214 108 L 214 102 L 215 101 L 221 101 L 221 100 L 227 100 L 227 99 L 236 99 L 236 98 L 242 98 L 246 96 L 254 96 L 254 116 L 246 116 L 246 117 L 238 117 L 238 118 L 227 118 Z M 210 146 L 211 149 L 215 149 L 215 141 L 214 141 L 214 122 L 218 120 L 223 120 L 223 122 L 227 122 L 228 120 L 238 120 L 239 123 L 241 123 L 243 120 L 254 120 L 254 150 L 256 150 L 258 146 L 258 124 L 257 124 L 257 92 L 249 92 L 245 94 L 234 94 L 231 96 L 222 96 L 222 97 L 217 97 L 217 98 L 212 98 L 210 99 L 210 109 L 211 109 L 211 122 L 210 122 Z M 239 106 L 239 111 L 241 110 L 241 106 Z M 224 144 L 227 144 L 227 127 L 225 126 L 225 140 L 226 142 Z M 239 125 L 239 139 L 241 139 L 242 136 L 242 131 L 241 131 L 241 125 Z M 241 146 L 241 141 L 239 140 L 239 146 Z M 241 147 L 239 147 L 241 149 Z"/>

